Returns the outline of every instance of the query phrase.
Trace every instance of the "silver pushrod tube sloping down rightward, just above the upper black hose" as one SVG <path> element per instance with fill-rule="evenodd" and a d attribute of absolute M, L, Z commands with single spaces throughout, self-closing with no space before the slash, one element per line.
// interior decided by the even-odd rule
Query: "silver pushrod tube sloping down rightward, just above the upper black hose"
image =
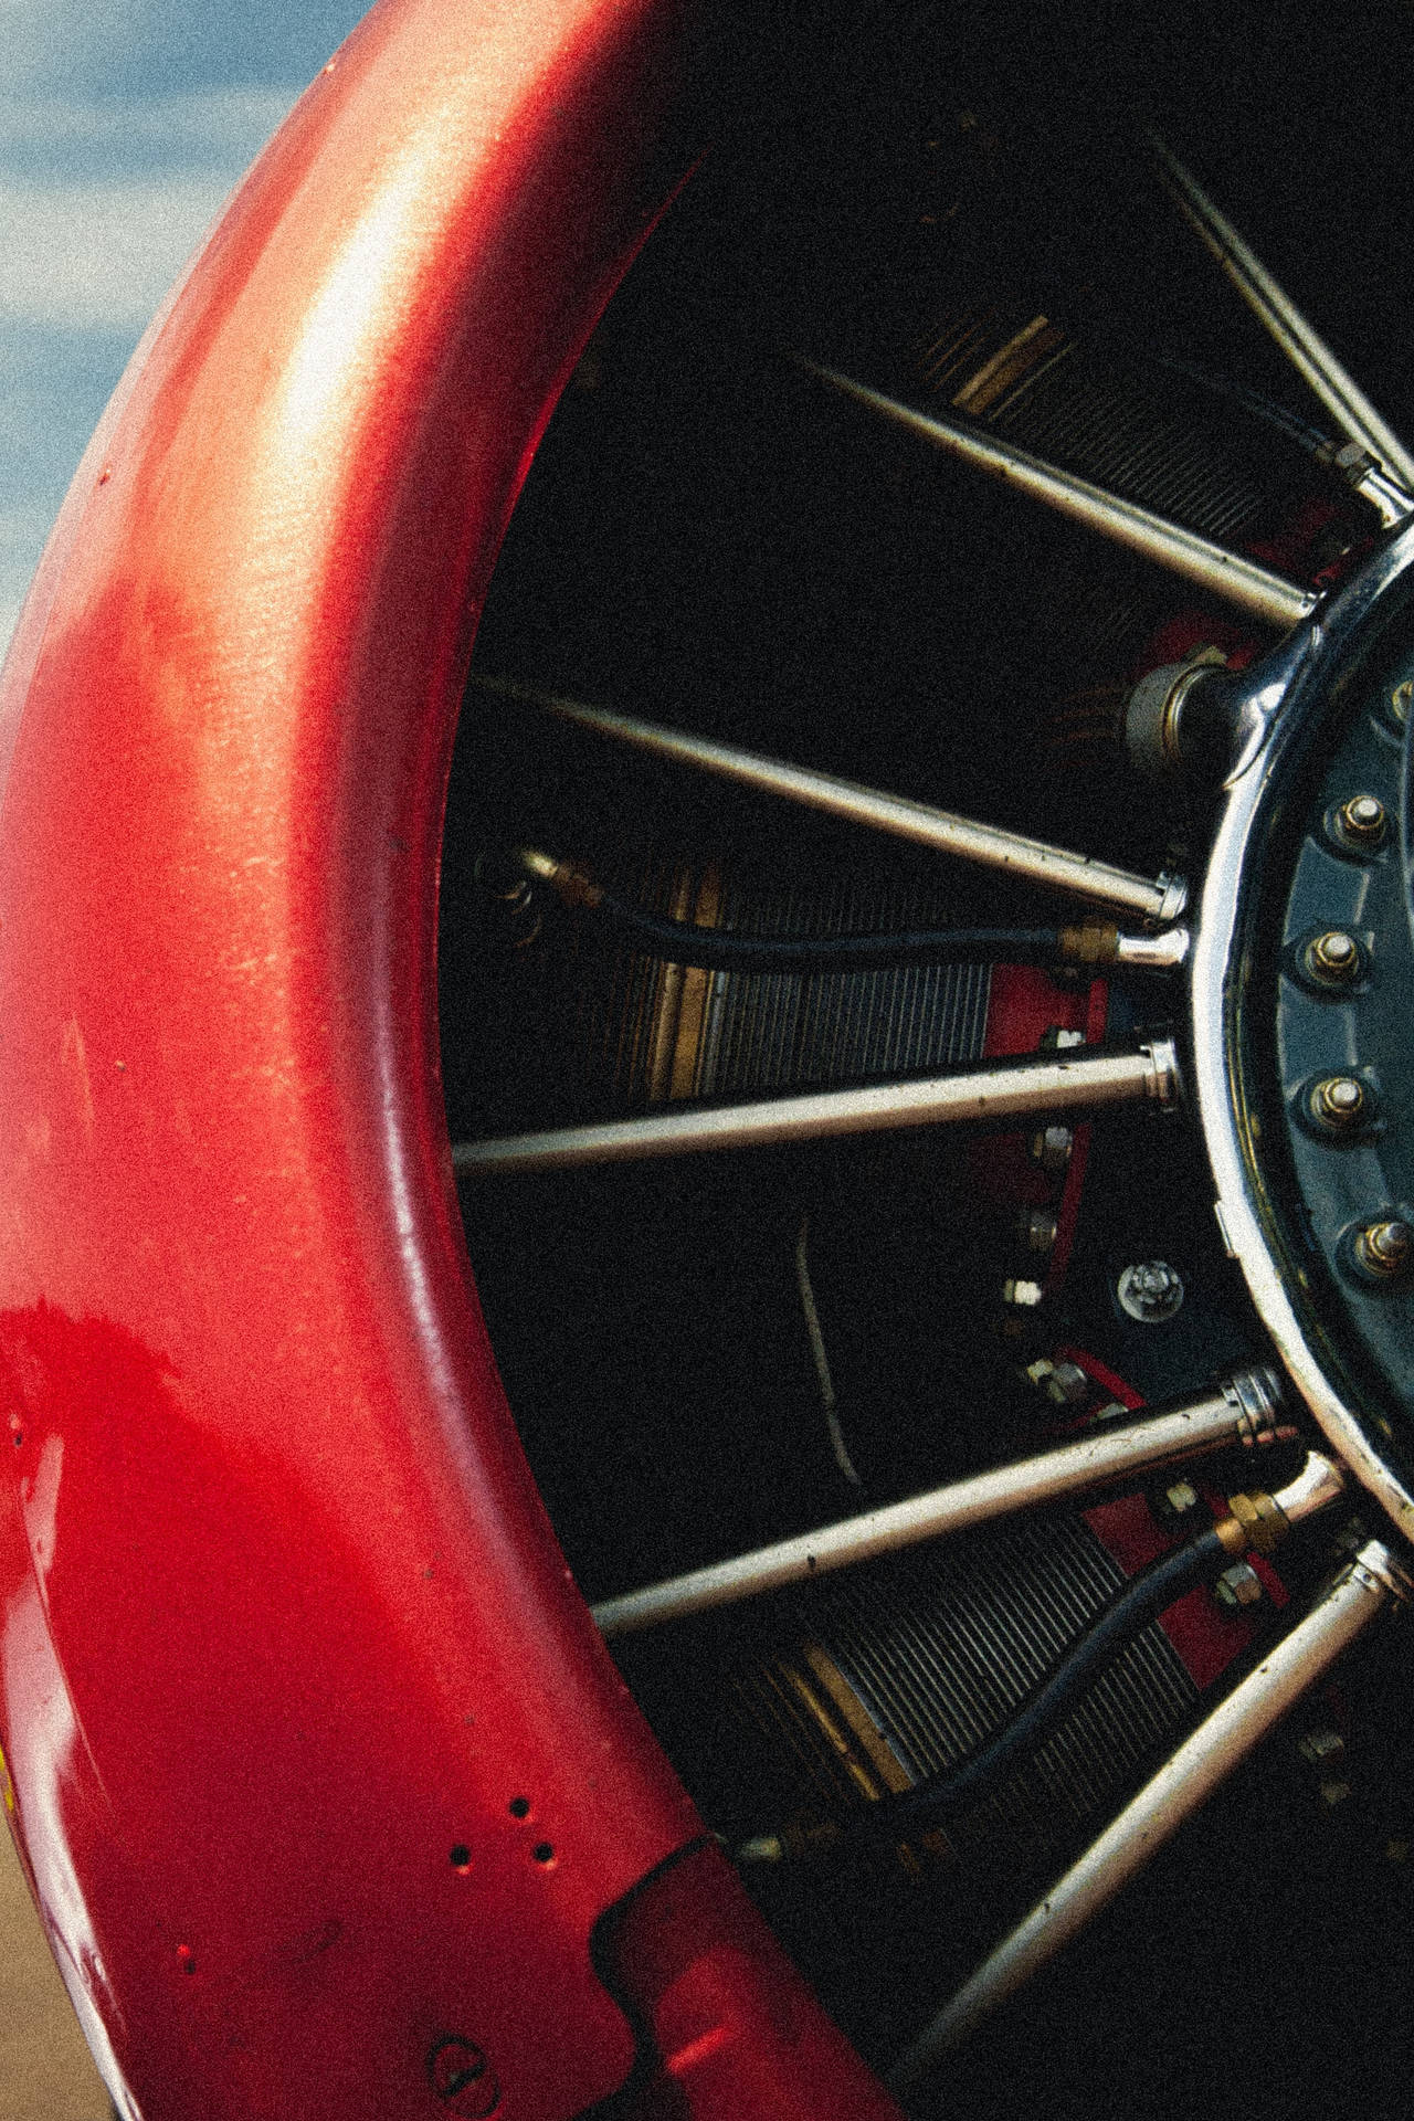
<path fill-rule="evenodd" d="M 895 840 L 914 840 L 918 846 L 931 846 L 939 855 L 952 855 L 986 870 L 1005 870 L 1009 876 L 1041 884 L 1045 891 L 1066 891 L 1096 906 L 1113 906 L 1115 912 L 1136 914 L 1153 925 L 1177 921 L 1187 901 L 1187 889 L 1172 876 L 1134 876 L 1107 861 L 1092 861 L 1090 855 L 1073 855 L 1064 846 L 1049 846 L 1045 840 L 1030 840 L 1020 831 L 1003 831 L 1001 825 L 979 825 L 975 819 L 912 802 L 907 795 L 888 795 L 882 789 L 861 787 L 856 781 L 816 774 L 808 766 L 789 766 L 784 759 L 767 759 L 755 751 L 742 751 L 738 744 L 719 744 L 710 736 L 666 730 L 661 723 L 638 721 L 634 715 L 617 715 L 604 706 L 562 700 L 509 679 L 473 674 L 473 683 L 481 691 L 517 700 L 522 706 L 536 706 L 581 730 L 634 744 L 638 751 L 649 751 L 674 766 L 693 766 L 723 781 L 736 781 L 740 787 L 782 795 L 808 810 L 846 819 L 850 825 L 886 831 Z"/>

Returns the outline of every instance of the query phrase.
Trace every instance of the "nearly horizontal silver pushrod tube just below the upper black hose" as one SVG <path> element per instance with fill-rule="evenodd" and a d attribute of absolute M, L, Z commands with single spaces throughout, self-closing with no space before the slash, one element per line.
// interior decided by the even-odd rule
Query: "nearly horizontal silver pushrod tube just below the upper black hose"
<path fill-rule="evenodd" d="M 1079 1048 L 1054 1060 L 998 1060 L 962 1075 L 878 1082 L 861 1090 L 810 1090 L 753 1105 L 706 1111 L 653 1111 L 638 1120 L 560 1126 L 541 1135 L 456 1141 L 462 1177 L 570 1171 L 579 1164 L 638 1162 L 647 1156 L 695 1156 L 704 1150 L 759 1150 L 831 1135 L 878 1135 L 903 1126 L 1007 1126 L 1051 1111 L 1096 1111 L 1155 1099 L 1179 1088 L 1174 1046 L 1149 1039 L 1132 1052 Z"/>

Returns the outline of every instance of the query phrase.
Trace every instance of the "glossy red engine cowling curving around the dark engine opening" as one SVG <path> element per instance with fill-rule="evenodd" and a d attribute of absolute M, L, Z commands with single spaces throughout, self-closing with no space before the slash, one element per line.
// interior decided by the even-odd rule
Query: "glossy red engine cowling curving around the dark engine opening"
<path fill-rule="evenodd" d="M 700 1833 L 505 1408 L 432 961 L 477 598 L 672 180 L 672 28 L 377 6 L 140 348 L 6 668 L 0 1735 L 144 2121 L 579 2113 L 634 2059 L 596 1924 Z M 642 2110 L 892 2110 L 689 1864 L 719 2062 Z"/>

